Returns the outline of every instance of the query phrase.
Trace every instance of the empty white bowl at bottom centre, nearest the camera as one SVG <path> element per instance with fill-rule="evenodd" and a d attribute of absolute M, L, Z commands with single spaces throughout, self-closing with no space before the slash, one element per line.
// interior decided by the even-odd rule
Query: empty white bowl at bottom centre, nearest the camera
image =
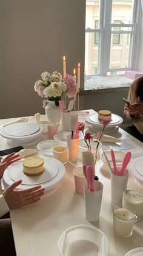
<path fill-rule="evenodd" d="M 106 256 L 109 251 L 108 240 L 96 227 L 77 225 L 65 230 L 58 241 L 59 254 Z"/>

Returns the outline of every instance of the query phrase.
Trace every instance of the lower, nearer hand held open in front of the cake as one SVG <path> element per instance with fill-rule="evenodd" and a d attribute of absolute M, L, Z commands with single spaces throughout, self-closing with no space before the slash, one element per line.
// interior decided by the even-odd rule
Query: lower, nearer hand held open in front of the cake
<path fill-rule="evenodd" d="M 10 210 L 21 208 L 28 204 L 34 204 L 35 202 L 38 202 L 44 194 L 45 188 L 42 188 L 39 185 L 25 190 L 16 189 L 21 182 L 22 180 L 14 182 L 3 193 L 4 199 Z"/>

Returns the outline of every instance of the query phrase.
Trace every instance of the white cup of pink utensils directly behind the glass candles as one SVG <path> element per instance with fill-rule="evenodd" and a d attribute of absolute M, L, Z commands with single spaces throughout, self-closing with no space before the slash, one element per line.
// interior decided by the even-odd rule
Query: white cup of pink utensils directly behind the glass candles
<path fill-rule="evenodd" d="M 122 206 L 122 195 L 127 187 L 128 169 L 125 169 L 124 176 L 117 176 L 111 172 L 111 204 Z"/>

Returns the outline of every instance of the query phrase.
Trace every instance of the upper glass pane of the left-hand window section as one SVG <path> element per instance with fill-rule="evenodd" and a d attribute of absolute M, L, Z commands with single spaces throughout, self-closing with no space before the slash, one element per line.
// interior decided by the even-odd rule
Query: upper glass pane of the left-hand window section
<path fill-rule="evenodd" d="M 100 12 L 100 1 L 96 0 L 86 0 L 86 18 L 85 18 L 85 29 L 99 29 L 99 12 Z"/>

